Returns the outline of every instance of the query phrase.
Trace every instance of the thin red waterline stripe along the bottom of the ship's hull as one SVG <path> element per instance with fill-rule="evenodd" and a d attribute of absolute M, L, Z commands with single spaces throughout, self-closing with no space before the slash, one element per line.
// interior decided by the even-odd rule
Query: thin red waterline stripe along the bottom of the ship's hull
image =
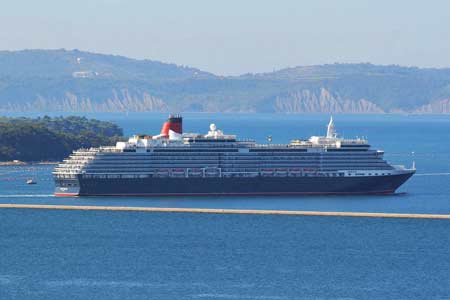
<path fill-rule="evenodd" d="M 163 196 L 295 196 L 295 195 L 390 195 L 394 191 L 373 191 L 373 192 L 252 192 L 252 193 L 142 193 L 142 194 L 90 194 L 86 196 L 113 196 L 113 197 L 129 197 L 129 196 L 146 196 L 146 197 L 163 197 Z M 56 197 L 83 196 L 77 193 L 55 193 Z"/>

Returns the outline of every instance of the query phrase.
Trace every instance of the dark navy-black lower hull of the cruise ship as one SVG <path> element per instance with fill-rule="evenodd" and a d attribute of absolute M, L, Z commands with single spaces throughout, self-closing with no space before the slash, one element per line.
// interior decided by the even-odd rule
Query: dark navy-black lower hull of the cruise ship
<path fill-rule="evenodd" d="M 414 172 L 384 176 L 83 178 L 60 180 L 56 196 L 238 196 L 392 194 Z"/>

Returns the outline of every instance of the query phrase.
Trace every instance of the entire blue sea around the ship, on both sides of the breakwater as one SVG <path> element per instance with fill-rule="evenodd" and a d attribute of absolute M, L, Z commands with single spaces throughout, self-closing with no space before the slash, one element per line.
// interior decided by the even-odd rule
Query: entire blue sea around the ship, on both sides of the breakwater
<path fill-rule="evenodd" d="M 167 117 L 87 116 L 127 135 Z M 450 116 L 333 117 L 417 174 L 391 196 L 54 198 L 54 166 L 4 166 L 0 203 L 450 214 Z M 284 143 L 323 135 L 328 119 L 185 114 L 183 126 Z M 2 300 L 450 299 L 445 220 L 0 209 L 0 230 Z"/>

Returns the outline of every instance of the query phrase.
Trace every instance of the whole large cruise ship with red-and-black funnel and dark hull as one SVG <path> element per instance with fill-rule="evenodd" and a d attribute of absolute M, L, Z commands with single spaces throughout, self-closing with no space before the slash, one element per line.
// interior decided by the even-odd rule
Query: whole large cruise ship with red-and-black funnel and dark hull
<path fill-rule="evenodd" d="M 183 133 L 170 115 L 161 133 L 79 149 L 57 165 L 56 196 L 392 194 L 415 173 L 394 166 L 365 139 L 336 134 L 259 144 L 225 134 Z"/>

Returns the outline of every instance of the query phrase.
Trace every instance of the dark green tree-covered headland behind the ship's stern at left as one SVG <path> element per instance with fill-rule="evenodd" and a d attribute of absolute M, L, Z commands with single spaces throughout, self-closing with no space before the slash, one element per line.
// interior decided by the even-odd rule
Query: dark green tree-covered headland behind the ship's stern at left
<path fill-rule="evenodd" d="M 119 140 L 122 128 L 86 117 L 0 117 L 0 166 L 55 164 L 76 149 Z"/>

